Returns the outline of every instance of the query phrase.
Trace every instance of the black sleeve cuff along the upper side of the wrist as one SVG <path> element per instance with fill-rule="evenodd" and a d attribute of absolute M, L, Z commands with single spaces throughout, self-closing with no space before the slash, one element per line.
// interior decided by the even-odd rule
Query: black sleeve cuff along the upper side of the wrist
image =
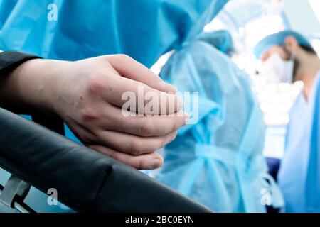
<path fill-rule="evenodd" d="M 0 72 L 14 70 L 16 67 L 31 59 L 41 58 L 36 55 L 29 55 L 22 52 L 7 51 L 0 53 Z"/>

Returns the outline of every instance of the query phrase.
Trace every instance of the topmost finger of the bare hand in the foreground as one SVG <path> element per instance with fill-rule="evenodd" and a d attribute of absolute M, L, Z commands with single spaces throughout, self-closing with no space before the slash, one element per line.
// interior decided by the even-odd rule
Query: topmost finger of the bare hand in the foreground
<path fill-rule="evenodd" d="M 123 77 L 142 82 L 162 92 L 175 93 L 177 90 L 176 87 L 167 84 L 147 67 L 127 55 L 112 55 L 107 57 L 112 67 Z"/>

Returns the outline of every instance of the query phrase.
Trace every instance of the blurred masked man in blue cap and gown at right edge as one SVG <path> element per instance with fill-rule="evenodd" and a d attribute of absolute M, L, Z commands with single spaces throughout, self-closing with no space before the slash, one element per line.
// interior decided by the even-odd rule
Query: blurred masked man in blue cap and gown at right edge
<path fill-rule="evenodd" d="M 267 36 L 255 48 L 270 80 L 302 81 L 289 113 L 285 155 L 278 173 L 287 212 L 320 212 L 320 60 L 309 41 L 294 31 Z"/>

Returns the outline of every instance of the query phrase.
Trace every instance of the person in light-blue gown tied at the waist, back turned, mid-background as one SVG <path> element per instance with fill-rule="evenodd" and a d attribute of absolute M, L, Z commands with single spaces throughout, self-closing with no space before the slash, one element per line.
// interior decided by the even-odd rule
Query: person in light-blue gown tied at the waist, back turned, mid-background
<path fill-rule="evenodd" d="M 228 31 L 203 33 L 164 65 L 166 82 L 199 92 L 198 123 L 166 145 L 155 177 L 213 211 L 265 212 L 265 205 L 282 206 L 282 196 L 262 156 L 262 113 L 250 79 L 228 56 L 232 50 Z"/>

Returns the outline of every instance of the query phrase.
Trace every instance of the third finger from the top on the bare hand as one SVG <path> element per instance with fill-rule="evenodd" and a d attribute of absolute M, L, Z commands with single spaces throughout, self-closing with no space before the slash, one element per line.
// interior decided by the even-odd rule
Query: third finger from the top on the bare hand
<path fill-rule="evenodd" d="M 167 135 L 186 125 L 188 114 L 124 116 L 122 109 L 107 106 L 100 127 L 143 137 Z"/>

